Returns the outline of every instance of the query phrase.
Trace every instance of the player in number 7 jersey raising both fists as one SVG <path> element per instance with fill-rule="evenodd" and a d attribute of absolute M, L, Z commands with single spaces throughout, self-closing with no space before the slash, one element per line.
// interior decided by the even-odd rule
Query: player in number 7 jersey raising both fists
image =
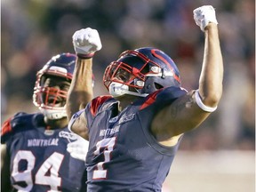
<path fill-rule="evenodd" d="M 182 135 L 217 108 L 223 79 L 218 22 L 211 5 L 194 10 L 194 19 L 205 41 L 198 89 L 181 87 L 179 69 L 166 53 L 142 47 L 108 65 L 103 82 L 110 95 L 85 108 L 92 93 L 92 63 L 86 60 L 100 50 L 100 36 L 92 28 L 73 35 L 78 59 L 68 92 L 68 127 L 89 140 L 87 191 L 161 191 Z"/>

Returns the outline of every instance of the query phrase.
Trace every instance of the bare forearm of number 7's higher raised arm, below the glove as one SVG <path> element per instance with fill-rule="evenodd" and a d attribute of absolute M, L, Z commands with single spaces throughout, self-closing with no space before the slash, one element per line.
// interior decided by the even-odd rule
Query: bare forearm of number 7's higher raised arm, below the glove
<path fill-rule="evenodd" d="M 199 93 L 204 105 L 215 107 L 220 101 L 223 80 L 223 60 L 217 25 L 210 23 L 204 34 L 204 61 L 199 80 Z"/>

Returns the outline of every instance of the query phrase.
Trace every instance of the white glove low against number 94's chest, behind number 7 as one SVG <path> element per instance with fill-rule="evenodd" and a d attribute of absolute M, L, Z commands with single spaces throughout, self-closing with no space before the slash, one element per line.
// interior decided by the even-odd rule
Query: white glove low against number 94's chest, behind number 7
<path fill-rule="evenodd" d="M 77 140 L 68 143 L 67 150 L 70 156 L 85 162 L 88 147 L 89 141 L 77 135 Z"/>

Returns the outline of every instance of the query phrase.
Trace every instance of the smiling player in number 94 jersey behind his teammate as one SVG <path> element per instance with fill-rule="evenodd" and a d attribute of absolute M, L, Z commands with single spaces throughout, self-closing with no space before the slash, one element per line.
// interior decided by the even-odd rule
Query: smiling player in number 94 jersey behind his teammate
<path fill-rule="evenodd" d="M 66 113 L 75 63 L 75 54 L 52 57 L 36 75 L 33 102 L 40 113 L 20 112 L 4 122 L 2 191 L 86 191 L 88 141 L 68 130 Z M 79 145 L 84 150 L 77 154 L 72 148 Z"/>

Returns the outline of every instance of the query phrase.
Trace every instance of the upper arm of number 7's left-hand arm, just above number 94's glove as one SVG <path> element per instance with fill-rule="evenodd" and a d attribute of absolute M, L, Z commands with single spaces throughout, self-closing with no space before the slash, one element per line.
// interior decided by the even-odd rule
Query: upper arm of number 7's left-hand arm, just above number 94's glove
<path fill-rule="evenodd" d="M 85 140 L 88 140 L 87 120 L 85 118 L 85 111 L 81 110 L 72 116 L 68 123 L 68 129 L 75 132 Z"/>

